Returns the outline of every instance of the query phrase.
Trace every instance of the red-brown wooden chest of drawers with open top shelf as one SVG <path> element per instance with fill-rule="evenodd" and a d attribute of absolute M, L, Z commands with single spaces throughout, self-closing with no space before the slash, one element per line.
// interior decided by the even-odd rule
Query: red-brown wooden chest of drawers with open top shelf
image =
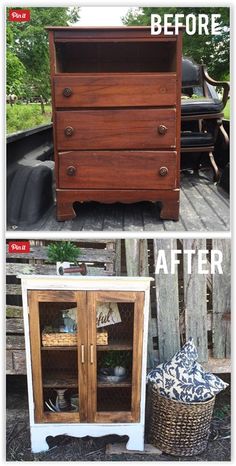
<path fill-rule="evenodd" d="M 160 201 L 177 220 L 181 35 L 48 29 L 57 219 L 77 201 Z"/>

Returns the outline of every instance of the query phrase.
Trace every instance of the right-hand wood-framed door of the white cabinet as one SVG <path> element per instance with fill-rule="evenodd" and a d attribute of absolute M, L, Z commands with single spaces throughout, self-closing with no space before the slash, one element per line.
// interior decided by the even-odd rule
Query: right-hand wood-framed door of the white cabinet
<path fill-rule="evenodd" d="M 88 418 L 140 418 L 144 293 L 88 292 Z"/>

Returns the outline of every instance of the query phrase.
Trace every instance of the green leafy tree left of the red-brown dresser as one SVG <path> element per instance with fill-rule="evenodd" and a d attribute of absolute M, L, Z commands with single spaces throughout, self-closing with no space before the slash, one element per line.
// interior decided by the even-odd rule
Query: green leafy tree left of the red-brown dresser
<path fill-rule="evenodd" d="M 8 15 L 8 12 L 7 12 Z M 21 96 L 48 99 L 49 45 L 46 26 L 68 26 L 79 20 L 79 8 L 30 8 L 30 21 L 7 21 L 7 89 Z M 9 61 L 8 61 L 9 60 Z"/>

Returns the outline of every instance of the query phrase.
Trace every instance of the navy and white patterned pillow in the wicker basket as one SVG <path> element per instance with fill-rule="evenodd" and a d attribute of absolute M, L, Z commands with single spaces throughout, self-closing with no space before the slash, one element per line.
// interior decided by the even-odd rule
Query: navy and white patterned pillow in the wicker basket
<path fill-rule="evenodd" d="M 196 347 L 190 338 L 170 361 L 151 370 L 147 379 L 155 383 L 160 394 L 167 398 L 186 403 L 206 401 L 228 384 L 207 372 L 197 358 Z"/>

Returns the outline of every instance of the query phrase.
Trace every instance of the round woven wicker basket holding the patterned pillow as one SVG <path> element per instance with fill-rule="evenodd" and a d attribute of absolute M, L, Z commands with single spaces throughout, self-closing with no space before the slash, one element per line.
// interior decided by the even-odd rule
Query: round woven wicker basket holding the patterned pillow
<path fill-rule="evenodd" d="M 192 456 L 207 447 L 215 397 L 198 403 L 170 400 L 152 388 L 149 441 L 165 453 Z"/>

